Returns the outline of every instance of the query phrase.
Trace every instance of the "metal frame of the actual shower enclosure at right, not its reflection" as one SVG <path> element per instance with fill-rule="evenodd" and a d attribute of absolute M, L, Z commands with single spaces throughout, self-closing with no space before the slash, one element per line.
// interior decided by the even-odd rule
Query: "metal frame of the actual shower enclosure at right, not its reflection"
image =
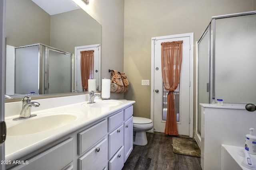
<path fill-rule="evenodd" d="M 209 33 L 209 37 L 208 37 L 208 75 L 209 75 L 209 80 L 208 80 L 208 84 L 205 85 L 205 87 L 207 87 L 208 89 L 208 104 L 212 104 L 213 99 L 218 98 L 218 96 L 216 96 L 216 92 L 218 92 L 218 90 L 216 91 L 216 68 L 219 67 L 219 65 L 216 65 L 218 63 L 216 63 L 216 31 L 219 31 L 216 29 L 216 21 L 217 20 L 221 20 L 224 18 L 233 18 L 233 17 L 239 17 L 239 16 L 248 16 L 248 15 L 255 15 L 256 11 L 252 11 L 252 12 L 242 12 L 242 13 L 236 13 L 236 14 L 228 14 L 228 15 L 222 15 L 222 16 L 214 16 L 212 17 L 212 19 L 210 20 L 210 22 L 208 23 L 206 29 L 204 30 L 204 32 L 202 33 L 200 39 L 196 42 L 196 133 L 195 133 L 195 138 L 196 141 L 198 142 L 199 145 L 201 145 L 201 133 L 200 131 L 198 131 L 200 128 L 199 126 L 201 126 L 200 123 L 200 96 L 199 96 L 199 66 L 200 66 L 200 61 L 199 61 L 199 48 L 200 48 L 200 43 L 202 41 L 202 39 L 204 38 L 204 35 L 206 34 L 206 32 L 208 31 Z M 219 40 L 218 40 L 219 42 Z M 232 42 L 233 43 L 233 42 Z M 231 88 L 231 87 L 230 87 Z M 234 102 L 226 102 L 224 100 L 224 103 L 230 103 L 230 104 L 244 104 L 244 102 L 240 102 L 240 101 L 234 101 Z"/>

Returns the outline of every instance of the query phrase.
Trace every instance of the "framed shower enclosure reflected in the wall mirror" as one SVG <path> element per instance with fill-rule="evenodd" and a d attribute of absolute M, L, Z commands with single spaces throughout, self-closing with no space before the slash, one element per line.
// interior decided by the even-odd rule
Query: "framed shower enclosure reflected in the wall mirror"
<path fill-rule="evenodd" d="M 73 90 L 73 55 L 43 44 L 15 48 L 15 94 Z"/>

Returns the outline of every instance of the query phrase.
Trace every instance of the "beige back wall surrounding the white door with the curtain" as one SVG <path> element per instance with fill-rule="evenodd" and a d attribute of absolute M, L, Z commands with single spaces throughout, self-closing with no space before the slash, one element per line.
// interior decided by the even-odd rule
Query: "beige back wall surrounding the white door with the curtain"
<path fill-rule="evenodd" d="M 150 86 L 141 80 L 151 76 L 151 37 L 193 32 L 197 41 L 212 16 L 252 10 L 253 0 L 125 0 L 124 72 L 130 89 L 124 98 L 136 101 L 134 116 L 150 118 Z M 195 77 L 194 71 L 194 87 Z"/>

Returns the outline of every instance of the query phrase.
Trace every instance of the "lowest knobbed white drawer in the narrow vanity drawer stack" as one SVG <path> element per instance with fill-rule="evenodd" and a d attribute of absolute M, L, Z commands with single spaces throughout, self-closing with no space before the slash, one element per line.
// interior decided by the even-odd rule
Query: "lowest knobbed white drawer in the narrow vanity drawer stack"
<path fill-rule="evenodd" d="M 124 166 L 124 147 L 120 148 L 108 162 L 109 170 L 121 170 Z"/>

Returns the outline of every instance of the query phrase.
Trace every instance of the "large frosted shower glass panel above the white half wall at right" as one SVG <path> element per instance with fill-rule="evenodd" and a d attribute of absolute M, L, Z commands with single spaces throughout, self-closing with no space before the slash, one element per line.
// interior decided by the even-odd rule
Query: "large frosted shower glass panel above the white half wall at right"
<path fill-rule="evenodd" d="M 256 14 L 216 19 L 215 96 L 256 103 Z"/>

